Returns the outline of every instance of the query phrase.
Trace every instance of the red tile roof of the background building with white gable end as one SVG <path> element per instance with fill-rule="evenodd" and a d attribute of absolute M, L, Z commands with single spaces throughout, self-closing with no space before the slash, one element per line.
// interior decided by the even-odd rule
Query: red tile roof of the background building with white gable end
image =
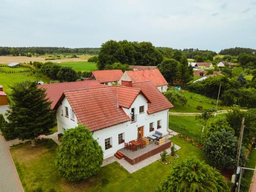
<path fill-rule="evenodd" d="M 133 83 L 150 80 L 156 87 L 168 85 L 167 81 L 164 79 L 163 75 L 158 69 L 125 71 L 124 74 L 125 73 L 130 77 Z"/>

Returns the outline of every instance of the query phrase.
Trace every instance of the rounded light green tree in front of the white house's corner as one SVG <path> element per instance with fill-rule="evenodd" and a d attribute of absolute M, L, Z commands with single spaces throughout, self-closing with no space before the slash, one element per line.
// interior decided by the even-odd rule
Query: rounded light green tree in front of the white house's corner
<path fill-rule="evenodd" d="M 69 129 L 58 146 L 55 164 L 62 177 L 75 181 L 87 179 L 101 168 L 103 152 L 86 126 Z"/>

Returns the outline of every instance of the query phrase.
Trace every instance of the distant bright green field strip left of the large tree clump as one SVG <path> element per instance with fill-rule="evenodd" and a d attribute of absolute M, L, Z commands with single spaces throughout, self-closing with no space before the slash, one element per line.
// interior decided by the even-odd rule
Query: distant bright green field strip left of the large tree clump
<path fill-rule="evenodd" d="M 94 62 L 61 62 L 59 63 L 61 66 L 69 66 L 72 67 L 76 71 L 95 71 L 97 70 L 97 65 Z"/>

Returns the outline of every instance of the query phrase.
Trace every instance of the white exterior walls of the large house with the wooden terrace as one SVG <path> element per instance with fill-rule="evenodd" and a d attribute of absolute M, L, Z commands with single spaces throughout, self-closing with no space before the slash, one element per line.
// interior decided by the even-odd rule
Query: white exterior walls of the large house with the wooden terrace
<path fill-rule="evenodd" d="M 62 105 L 59 106 L 59 109 L 57 110 L 57 119 L 58 119 L 58 131 L 62 133 L 62 127 L 65 129 L 70 129 L 75 126 L 77 126 L 77 122 L 75 119 L 75 122 L 71 119 L 66 118 L 65 116 L 61 116 L 61 109 L 65 110 L 64 106 L 68 106 L 70 108 L 70 105 L 67 103 L 67 99 L 65 98 L 62 101 Z M 144 113 L 139 114 L 139 106 L 144 105 Z M 137 121 L 131 122 L 127 121 L 124 123 L 120 123 L 117 125 L 113 125 L 110 127 L 106 127 L 105 129 L 98 130 L 93 132 L 93 138 L 96 139 L 101 146 L 103 153 L 104 153 L 104 159 L 113 156 L 118 150 L 124 147 L 124 143 L 118 144 L 118 134 L 123 133 L 123 139 L 125 142 L 129 142 L 131 140 L 137 139 L 138 135 L 138 127 L 144 126 L 143 129 L 143 136 L 147 137 L 149 135 L 153 135 L 155 131 L 161 132 L 163 135 L 166 135 L 167 127 L 168 127 L 168 110 L 164 110 L 161 112 L 157 112 L 151 115 L 147 114 L 147 100 L 144 98 L 143 95 L 138 95 L 138 97 L 133 102 L 130 109 L 122 108 L 124 112 L 130 116 L 131 109 L 135 108 L 135 115 L 137 115 Z M 64 111 L 65 113 L 65 111 Z M 62 120 L 62 121 L 61 121 Z M 157 121 L 161 120 L 161 128 L 157 129 Z M 72 121 L 72 122 L 71 122 Z M 150 132 L 150 123 L 154 122 L 154 128 L 155 131 Z M 111 148 L 108 148 L 105 150 L 105 139 L 111 138 Z"/>

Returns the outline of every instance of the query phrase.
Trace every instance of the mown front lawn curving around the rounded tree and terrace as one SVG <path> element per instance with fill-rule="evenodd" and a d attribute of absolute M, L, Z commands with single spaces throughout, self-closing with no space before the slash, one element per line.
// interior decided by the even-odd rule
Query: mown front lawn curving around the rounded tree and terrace
<path fill-rule="evenodd" d="M 200 148 L 179 137 L 170 140 L 181 146 L 177 151 L 180 159 L 196 156 L 206 160 Z M 114 162 L 102 167 L 96 176 L 86 181 L 69 182 L 57 174 L 54 165 L 56 149 L 52 140 L 43 140 L 34 148 L 27 144 L 10 150 L 25 191 L 38 187 L 43 191 L 124 191 L 124 186 L 129 186 L 125 191 L 153 191 L 172 168 L 172 164 L 163 165 L 156 161 L 130 174 Z M 168 159 L 173 161 L 170 157 Z"/>

